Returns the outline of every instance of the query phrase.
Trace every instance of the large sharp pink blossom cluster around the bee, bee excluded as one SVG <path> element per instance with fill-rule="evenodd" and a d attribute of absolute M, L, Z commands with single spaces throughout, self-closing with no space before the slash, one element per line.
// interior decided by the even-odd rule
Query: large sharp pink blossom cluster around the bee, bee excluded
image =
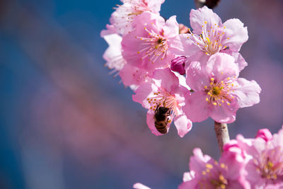
<path fill-rule="evenodd" d="M 204 6 L 190 11 L 190 30 L 176 16 L 160 16 L 164 0 L 121 1 L 101 32 L 109 45 L 103 58 L 148 110 L 151 132 L 163 134 L 154 124 L 158 107 L 170 110 L 167 131 L 174 122 L 183 137 L 192 122 L 230 123 L 238 108 L 259 103 L 260 86 L 238 77 L 247 66 L 239 50 L 248 40 L 240 20 L 222 23 Z"/>

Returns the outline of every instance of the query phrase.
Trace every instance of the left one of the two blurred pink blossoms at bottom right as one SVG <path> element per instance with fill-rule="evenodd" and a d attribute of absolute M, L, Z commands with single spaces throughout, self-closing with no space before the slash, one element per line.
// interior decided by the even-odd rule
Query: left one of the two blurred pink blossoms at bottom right
<path fill-rule="evenodd" d="M 194 149 L 190 158 L 190 173 L 185 173 L 179 189 L 224 189 L 250 188 L 245 180 L 244 159 L 238 151 L 226 151 L 215 161 Z"/>

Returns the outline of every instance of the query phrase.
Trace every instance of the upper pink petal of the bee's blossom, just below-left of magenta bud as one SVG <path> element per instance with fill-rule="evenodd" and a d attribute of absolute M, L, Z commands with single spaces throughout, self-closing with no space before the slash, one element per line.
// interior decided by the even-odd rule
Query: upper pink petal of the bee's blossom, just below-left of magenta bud
<path fill-rule="evenodd" d="M 161 86 L 165 88 L 168 93 L 171 93 L 172 90 L 175 90 L 179 85 L 179 79 L 171 71 L 171 69 L 156 69 L 152 76 L 153 79 L 161 80 Z"/>

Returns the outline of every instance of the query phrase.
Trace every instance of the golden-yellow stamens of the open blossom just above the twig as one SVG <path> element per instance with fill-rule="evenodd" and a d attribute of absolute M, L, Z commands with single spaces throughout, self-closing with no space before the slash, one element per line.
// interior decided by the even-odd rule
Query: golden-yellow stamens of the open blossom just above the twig
<path fill-rule="evenodd" d="M 210 78 L 210 85 L 204 86 L 204 91 L 207 93 L 207 97 L 205 101 L 208 103 L 212 103 L 213 105 L 221 106 L 223 103 L 230 105 L 233 101 L 233 96 L 231 91 L 233 92 L 232 87 L 235 87 L 233 84 L 233 79 L 228 77 L 224 79 L 224 81 L 216 81 L 214 77 Z"/>

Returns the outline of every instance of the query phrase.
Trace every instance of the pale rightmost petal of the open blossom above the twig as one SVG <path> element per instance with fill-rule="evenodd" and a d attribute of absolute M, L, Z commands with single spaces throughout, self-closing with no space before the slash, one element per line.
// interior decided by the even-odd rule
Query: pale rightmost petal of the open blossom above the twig
<path fill-rule="evenodd" d="M 255 81 L 238 78 L 233 87 L 233 94 L 237 96 L 240 108 L 248 107 L 260 102 L 261 88 Z"/>

